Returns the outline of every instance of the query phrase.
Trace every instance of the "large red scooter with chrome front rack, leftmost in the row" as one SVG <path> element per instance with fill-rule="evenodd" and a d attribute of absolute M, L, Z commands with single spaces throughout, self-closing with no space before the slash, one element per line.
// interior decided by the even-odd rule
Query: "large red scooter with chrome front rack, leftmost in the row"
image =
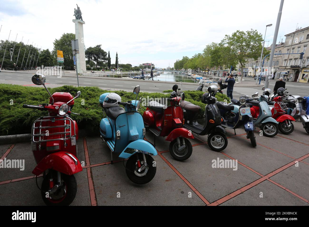
<path fill-rule="evenodd" d="M 36 74 L 32 82 L 45 86 L 45 77 Z M 69 116 L 74 99 L 80 96 L 78 91 L 73 98 L 70 93 L 56 92 L 50 95 L 49 104 L 28 105 L 23 108 L 33 108 L 49 111 L 49 116 L 40 117 L 32 124 L 31 145 L 37 166 L 33 174 L 43 173 L 41 196 L 46 205 L 70 205 L 77 192 L 77 183 L 73 174 L 82 171 L 77 156 L 78 126 Z M 48 173 L 46 174 L 46 171 Z"/>

